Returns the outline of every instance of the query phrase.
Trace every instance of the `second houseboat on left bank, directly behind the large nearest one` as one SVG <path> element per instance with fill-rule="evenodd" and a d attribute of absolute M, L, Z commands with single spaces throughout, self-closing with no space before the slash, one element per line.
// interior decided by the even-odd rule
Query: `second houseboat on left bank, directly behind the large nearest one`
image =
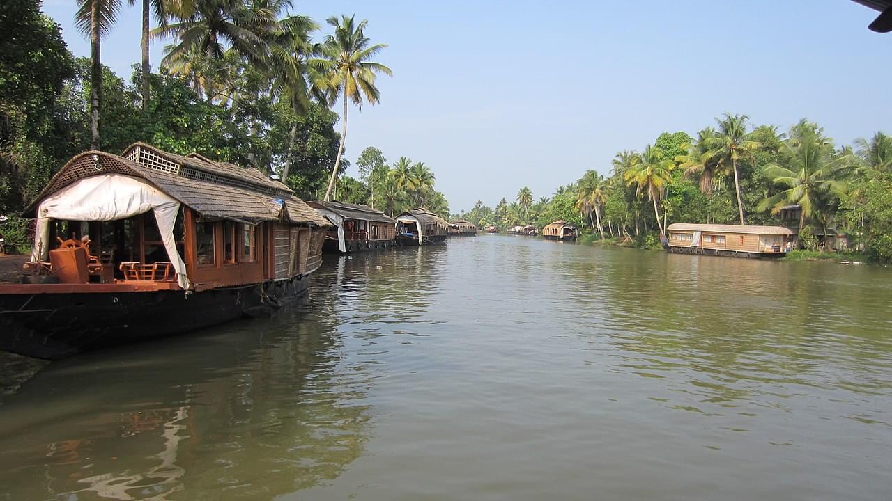
<path fill-rule="evenodd" d="M 323 250 L 327 252 L 344 254 L 396 245 L 396 219 L 380 210 L 343 201 L 308 201 L 307 205 L 335 226 L 326 233 Z"/>

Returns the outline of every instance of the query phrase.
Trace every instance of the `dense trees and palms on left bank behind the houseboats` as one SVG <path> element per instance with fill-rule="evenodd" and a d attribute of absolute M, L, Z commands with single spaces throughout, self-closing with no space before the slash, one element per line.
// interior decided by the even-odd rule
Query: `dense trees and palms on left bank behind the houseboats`
<path fill-rule="evenodd" d="M 391 74 L 376 62 L 386 45 L 370 41 L 367 21 L 331 17 L 324 33 L 287 13 L 290 0 L 137 4 L 143 61 L 128 79 L 100 58 L 103 36 L 125 12 L 120 0 L 78 0 L 89 59 L 70 53 L 39 2 L 0 7 L 0 214 L 23 209 L 74 154 L 118 153 L 137 141 L 280 175 L 304 199 L 350 192 L 350 178 L 338 181 L 349 165 L 348 102 L 378 103 L 376 77 Z M 169 44 L 156 72 L 148 71 L 149 39 Z M 331 110 L 337 102 L 341 116 Z M 407 183 L 397 201 L 432 196 Z"/>

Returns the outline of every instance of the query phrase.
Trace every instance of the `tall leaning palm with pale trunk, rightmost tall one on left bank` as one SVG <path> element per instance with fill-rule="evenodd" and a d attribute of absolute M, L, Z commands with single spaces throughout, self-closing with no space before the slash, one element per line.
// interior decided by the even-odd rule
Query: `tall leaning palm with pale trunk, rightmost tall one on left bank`
<path fill-rule="evenodd" d="M 335 16 L 332 16 L 326 20 L 335 28 L 335 34 L 326 37 L 320 47 L 323 59 L 316 61 L 316 66 L 328 80 L 329 102 L 334 104 L 338 97 L 343 99 L 341 142 L 337 148 L 335 168 L 332 169 L 332 176 L 328 181 L 326 201 L 331 195 L 337 171 L 341 168 L 343 144 L 347 139 L 347 101 L 350 100 L 356 104 L 360 111 L 362 110 L 363 96 L 369 104 L 378 103 L 381 93 L 375 86 L 377 73 L 392 76 L 390 68 L 381 63 L 369 61 L 384 50 L 387 45 L 370 45 L 369 39 L 364 34 L 368 21 L 362 20 L 357 24 L 354 17 L 342 15 L 341 21 L 338 21 Z"/>

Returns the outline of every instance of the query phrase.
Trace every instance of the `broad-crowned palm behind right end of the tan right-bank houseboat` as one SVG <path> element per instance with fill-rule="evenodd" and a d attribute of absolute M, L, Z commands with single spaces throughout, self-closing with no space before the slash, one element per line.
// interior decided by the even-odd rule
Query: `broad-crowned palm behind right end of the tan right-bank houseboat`
<path fill-rule="evenodd" d="M 797 204 L 801 208 L 801 232 L 805 219 L 822 211 L 824 197 L 843 195 L 847 186 L 845 174 L 853 157 L 847 154 L 834 157 L 828 144 L 815 127 L 799 128 L 797 140 L 790 139 L 783 144 L 792 168 L 772 164 L 764 170 L 774 184 L 787 189 L 760 202 L 758 209 L 772 209 L 772 213 L 777 213 L 785 204 Z"/>

